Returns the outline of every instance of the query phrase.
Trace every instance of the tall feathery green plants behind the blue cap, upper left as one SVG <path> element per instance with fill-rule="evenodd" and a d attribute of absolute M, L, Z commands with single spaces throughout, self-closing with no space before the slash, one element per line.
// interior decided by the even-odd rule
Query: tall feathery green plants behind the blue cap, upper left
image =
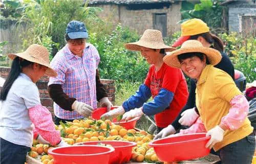
<path fill-rule="evenodd" d="M 19 19 L 29 26 L 28 37 L 24 47 L 31 43 L 42 43 L 43 38 L 52 40 L 52 54 L 55 54 L 65 42 L 65 30 L 71 20 L 86 22 L 87 19 L 98 19 L 95 15 L 100 8 L 87 7 L 82 0 L 48 0 L 25 1 L 27 8 Z"/>

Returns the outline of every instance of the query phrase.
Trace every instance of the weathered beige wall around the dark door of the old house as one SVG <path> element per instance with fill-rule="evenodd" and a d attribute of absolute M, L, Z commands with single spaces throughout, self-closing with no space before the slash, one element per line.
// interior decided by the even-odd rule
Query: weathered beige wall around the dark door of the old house
<path fill-rule="evenodd" d="M 143 34 L 146 29 L 153 29 L 153 14 L 166 13 L 167 14 L 167 35 L 180 31 L 180 25 L 176 23 L 181 20 L 181 3 L 170 5 L 169 8 L 163 9 L 150 9 L 150 10 L 127 10 L 123 5 L 94 5 L 103 9 L 99 13 L 99 17 L 103 20 L 112 20 L 111 23 L 122 25 L 131 28 Z"/>

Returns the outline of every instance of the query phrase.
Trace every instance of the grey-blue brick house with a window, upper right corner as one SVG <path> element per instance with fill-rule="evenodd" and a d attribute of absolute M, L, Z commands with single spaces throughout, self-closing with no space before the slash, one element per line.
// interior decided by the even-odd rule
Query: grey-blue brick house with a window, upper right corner
<path fill-rule="evenodd" d="M 228 8 L 228 31 L 256 34 L 256 4 L 255 0 L 234 1 L 222 3 Z"/>

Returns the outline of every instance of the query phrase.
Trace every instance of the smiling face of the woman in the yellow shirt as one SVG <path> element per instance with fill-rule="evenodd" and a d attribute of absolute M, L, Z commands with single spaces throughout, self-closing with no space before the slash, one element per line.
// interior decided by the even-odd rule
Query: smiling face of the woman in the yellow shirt
<path fill-rule="evenodd" d="M 202 60 L 197 56 L 181 59 L 181 69 L 189 78 L 198 80 L 206 65 L 205 59 L 205 56 L 203 56 Z"/>

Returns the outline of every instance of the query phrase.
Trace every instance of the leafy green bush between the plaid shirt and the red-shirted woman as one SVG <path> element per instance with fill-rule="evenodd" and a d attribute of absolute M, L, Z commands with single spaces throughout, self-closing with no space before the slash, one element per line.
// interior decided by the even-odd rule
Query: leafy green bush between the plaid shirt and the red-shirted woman
<path fill-rule="evenodd" d="M 137 38 L 137 39 L 135 39 Z M 142 82 L 148 71 L 148 64 L 138 52 L 128 51 L 124 44 L 137 41 L 138 36 L 128 29 L 117 25 L 108 36 L 90 35 L 89 42 L 99 51 L 101 62 L 99 72 L 101 78 L 113 79 L 118 83 L 126 80 Z"/>

